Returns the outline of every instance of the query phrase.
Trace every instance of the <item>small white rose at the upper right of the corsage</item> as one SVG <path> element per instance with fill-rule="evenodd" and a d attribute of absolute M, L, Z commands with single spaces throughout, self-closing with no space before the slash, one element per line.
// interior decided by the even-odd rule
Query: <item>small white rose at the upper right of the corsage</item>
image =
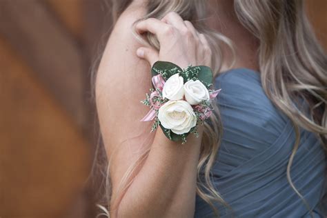
<path fill-rule="evenodd" d="M 204 83 L 201 83 L 199 80 L 193 81 L 190 79 L 187 81 L 184 84 L 184 92 L 186 101 L 191 105 L 197 105 L 202 100 L 210 99 L 208 89 L 204 86 Z"/>

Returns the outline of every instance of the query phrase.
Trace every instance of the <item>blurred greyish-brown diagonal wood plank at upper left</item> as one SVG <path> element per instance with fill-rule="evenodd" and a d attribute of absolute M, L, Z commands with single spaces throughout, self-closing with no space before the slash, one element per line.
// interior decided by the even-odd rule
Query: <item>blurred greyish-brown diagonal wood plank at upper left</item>
<path fill-rule="evenodd" d="M 48 8 L 37 0 L 0 1 L 0 34 L 79 126 L 87 125 L 83 52 Z"/>

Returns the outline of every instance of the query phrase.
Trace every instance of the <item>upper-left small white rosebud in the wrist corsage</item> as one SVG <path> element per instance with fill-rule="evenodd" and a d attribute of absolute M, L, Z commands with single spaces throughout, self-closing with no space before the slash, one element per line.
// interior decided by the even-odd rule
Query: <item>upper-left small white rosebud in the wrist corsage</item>
<path fill-rule="evenodd" d="M 169 77 L 162 89 L 162 97 L 169 100 L 180 100 L 184 97 L 184 79 L 177 74 Z"/>

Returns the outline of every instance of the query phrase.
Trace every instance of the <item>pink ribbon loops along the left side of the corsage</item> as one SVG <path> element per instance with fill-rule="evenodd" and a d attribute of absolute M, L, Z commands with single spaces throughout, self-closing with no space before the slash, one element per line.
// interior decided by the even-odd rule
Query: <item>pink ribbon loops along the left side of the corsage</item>
<path fill-rule="evenodd" d="M 162 89 L 164 88 L 164 85 L 165 85 L 165 79 L 160 74 L 155 75 L 154 77 L 152 77 L 152 83 L 153 83 L 153 86 L 155 86 L 156 89 L 159 89 L 160 91 L 162 91 Z M 155 109 L 158 110 L 160 108 L 159 102 L 154 101 L 155 98 L 158 97 L 158 96 L 159 96 L 159 93 L 157 92 L 157 90 L 151 92 L 151 94 L 150 94 L 150 103 L 151 103 L 152 108 L 146 114 L 146 116 L 144 116 L 141 119 L 141 121 L 150 121 L 150 120 L 155 118 L 155 116 L 156 116 Z"/>

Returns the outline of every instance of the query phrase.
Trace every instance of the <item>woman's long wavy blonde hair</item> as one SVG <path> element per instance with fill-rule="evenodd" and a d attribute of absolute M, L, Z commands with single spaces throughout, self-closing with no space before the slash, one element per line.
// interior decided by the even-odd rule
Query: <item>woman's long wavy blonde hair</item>
<path fill-rule="evenodd" d="M 132 0 L 111 0 L 110 8 L 113 25 L 119 15 L 126 10 Z M 206 26 L 207 1 L 197 0 L 150 0 L 146 4 L 146 14 L 135 21 L 134 25 L 143 19 L 155 17 L 161 19 L 168 12 L 177 12 L 184 20 L 191 21 L 197 31 L 204 33 L 212 48 L 212 71 L 214 77 L 221 72 L 224 55 L 221 44 L 230 48 L 231 54 L 235 54 L 234 46 L 230 39 L 223 34 Z M 290 155 L 286 170 L 286 177 L 290 186 L 304 201 L 308 210 L 306 200 L 294 186 L 290 178 L 290 167 L 293 163 L 295 153 L 299 147 L 299 130 L 304 128 L 314 132 L 321 141 L 321 146 L 327 150 L 327 58 L 324 50 L 315 38 L 315 34 L 308 22 L 304 11 L 304 2 L 301 0 L 235 0 L 235 14 L 237 18 L 252 34 L 259 40 L 257 59 L 259 60 L 259 71 L 261 83 L 268 98 L 274 105 L 284 112 L 295 129 L 295 144 Z M 145 46 L 152 46 L 159 50 L 160 45 L 154 34 L 147 33 L 146 40 L 139 37 L 133 28 L 132 34 Z M 230 63 L 232 67 L 232 63 Z M 93 70 L 96 72 L 96 70 Z M 95 84 L 96 73 L 93 75 L 92 85 Z M 310 108 L 309 115 L 297 108 L 297 99 L 304 99 Z M 215 201 L 228 206 L 219 195 L 219 190 L 212 185 L 210 178 L 211 168 L 215 163 L 219 151 L 222 136 L 222 123 L 219 119 L 219 108 L 213 103 L 214 113 L 210 120 L 206 121 L 204 135 L 201 141 L 201 153 L 197 165 L 197 194 L 204 199 L 215 214 L 219 216 Z M 113 210 L 119 204 L 110 205 L 111 186 L 109 166 L 110 159 L 106 161 L 103 155 L 103 143 L 98 143 L 98 155 L 106 162 L 99 164 L 103 167 L 103 187 L 106 195 L 103 195 L 101 208 L 106 211 Z M 132 183 L 132 174 L 137 171 L 138 166 L 148 157 L 150 146 L 139 156 L 139 159 L 128 168 L 121 180 L 119 192 L 121 196 Z M 99 159 L 98 159 L 99 160 Z M 100 159 L 101 161 L 101 159 Z M 100 191 L 100 193 L 103 193 Z M 119 197 L 117 197 L 118 199 Z M 112 201 L 111 201 L 112 202 Z M 312 215 L 312 211 L 311 215 Z"/>

